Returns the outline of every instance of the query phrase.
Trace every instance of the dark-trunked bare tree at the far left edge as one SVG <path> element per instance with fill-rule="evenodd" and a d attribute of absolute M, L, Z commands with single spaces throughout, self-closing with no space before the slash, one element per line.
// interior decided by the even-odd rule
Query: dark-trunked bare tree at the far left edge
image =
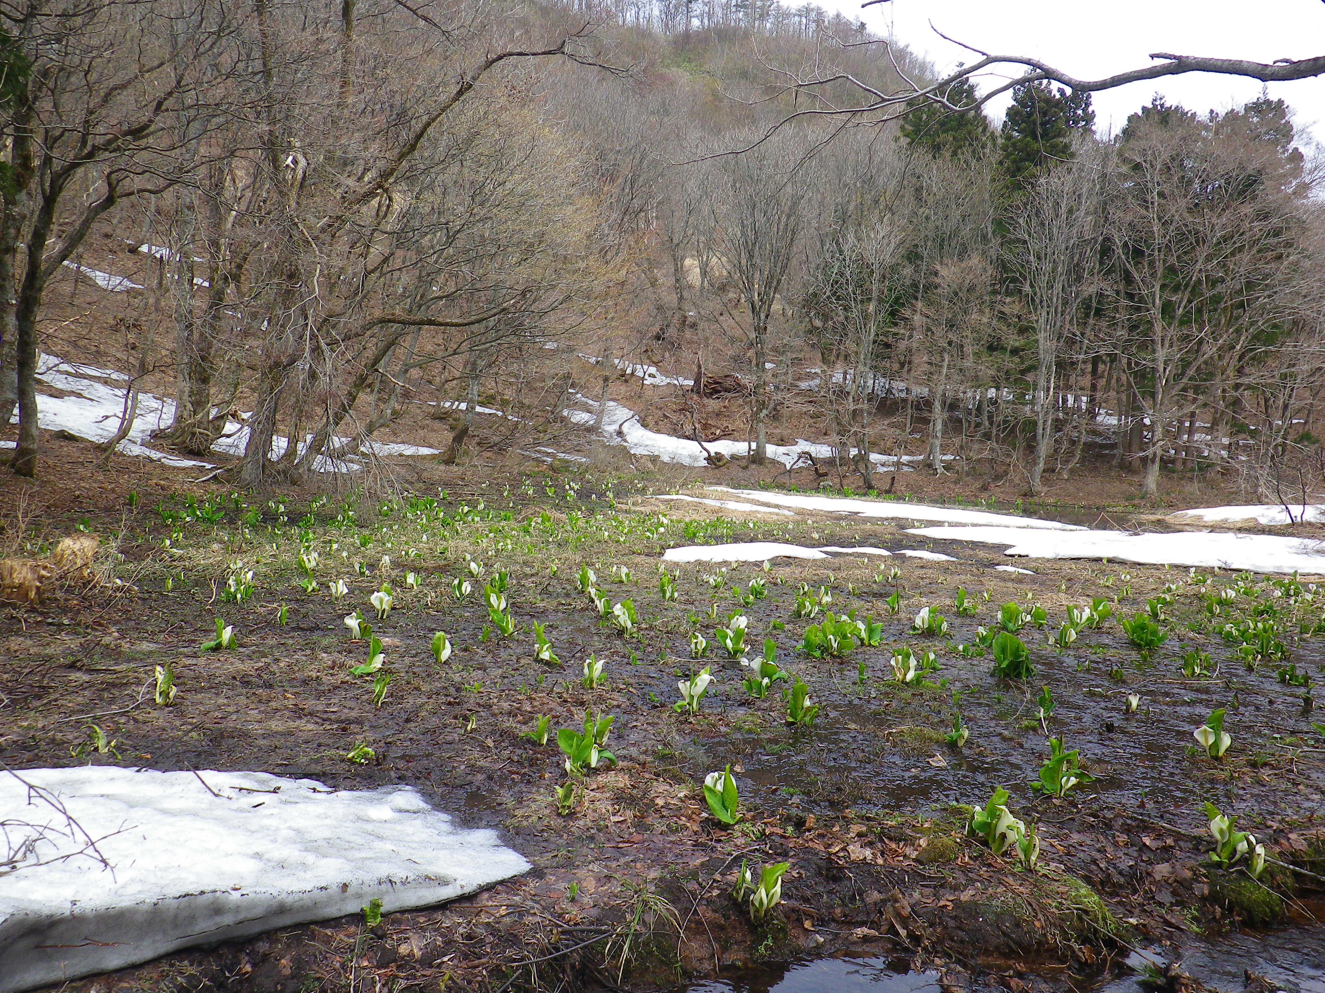
<path fill-rule="evenodd" d="M 204 111 L 201 94 L 229 71 L 233 23 L 228 5 L 211 0 L 21 0 L 0 7 L 0 19 L 25 68 L 5 122 L 0 335 L 12 328 L 15 340 L 19 442 L 11 466 L 30 477 L 46 285 L 118 203 L 184 177 L 178 119 Z M 9 409 L 0 396 L 0 413 Z"/>

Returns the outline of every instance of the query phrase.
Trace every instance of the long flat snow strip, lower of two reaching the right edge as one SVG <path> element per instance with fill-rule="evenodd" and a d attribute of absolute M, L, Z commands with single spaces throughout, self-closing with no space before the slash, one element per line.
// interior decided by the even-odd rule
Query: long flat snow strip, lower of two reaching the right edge
<path fill-rule="evenodd" d="M 1023 531 L 1012 527 L 918 527 L 906 534 L 1008 545 L 1006 555 L 1028 559 L 1116 559 L 1147 565 L 1251 572 L 1325 573 L 1325 542 L 1277 535 L 1181 531 L 1128 534 L 1126 531 Z"/>

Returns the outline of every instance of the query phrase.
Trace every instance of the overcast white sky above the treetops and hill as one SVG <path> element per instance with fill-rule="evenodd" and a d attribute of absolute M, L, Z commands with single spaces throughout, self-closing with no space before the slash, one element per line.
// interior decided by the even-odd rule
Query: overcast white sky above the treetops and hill
<path fill-rule="evenodd" d="M 874 32 L 889 32 L 938 69 L 973 62 L 978 56 L 938 37 L 991 54 L 1035 56 L 1084 79 L 1150 64 L 1151 52 L 1220 56 L 1273 62 L 1325 53 L 1325 3 L 1321 0 L 890 0 L 860 9 L 860 0 L 820 0 L 828 9 L 863 17 Z M 984 81 L 986 89 L 990 82 Z M 1122 127 L 1128 114 L 1154 93 L 1196 111 L 1224 110 L 1260 93 L 1261 83 L 1207 73 L 1132 83 L 1093 95 L 1097 130 Z M 1271 83 L 1296 111 L 1298 130 L 1325 143 L 1325 78 Z M 1007 101 L 991 106 L 1002 115 Z"/>

